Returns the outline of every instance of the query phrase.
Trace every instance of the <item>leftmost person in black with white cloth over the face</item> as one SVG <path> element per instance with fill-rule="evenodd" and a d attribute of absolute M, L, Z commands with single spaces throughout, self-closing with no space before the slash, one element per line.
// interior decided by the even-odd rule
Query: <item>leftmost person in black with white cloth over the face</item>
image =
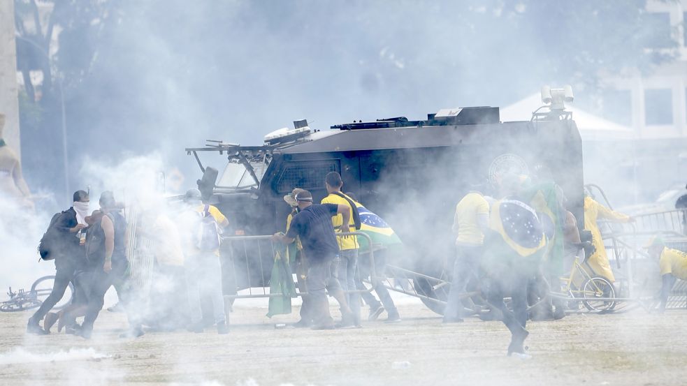
<path fill-rule="evenodd" d="M 55 281 L 52 291 L 45 302 L 41 304 L 27 323 L 27 332 L 31 334 L 49 334 L 50 327 L 57 321 L 57 314 L 50 313 L 43 327 L 38 322 L 48 314 L 52 307 L 64 296 L 64 291 L 70 282 L 74 282 L 74 272 L 85 263 L 85 248 L 80 245 L 80 232 L 86 228 L 85 218 L 89 210 L 88 193 L 76 191 L 73 195 L 73 205 L 63 211 L 55 222 L 52 231 L 55 232 Z"/>

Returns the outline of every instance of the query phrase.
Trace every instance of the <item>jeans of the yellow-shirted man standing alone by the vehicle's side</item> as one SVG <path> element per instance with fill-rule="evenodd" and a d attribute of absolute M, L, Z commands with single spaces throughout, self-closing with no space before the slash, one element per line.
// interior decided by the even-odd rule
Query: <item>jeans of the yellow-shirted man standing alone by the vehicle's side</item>
<path fill-rule="evenodd" d="M 482 246 L 458 246 L 451 290 L 444 309 L 444 320 L 463 318 L 461 295 L 472 277 L 477 276 Z"/>

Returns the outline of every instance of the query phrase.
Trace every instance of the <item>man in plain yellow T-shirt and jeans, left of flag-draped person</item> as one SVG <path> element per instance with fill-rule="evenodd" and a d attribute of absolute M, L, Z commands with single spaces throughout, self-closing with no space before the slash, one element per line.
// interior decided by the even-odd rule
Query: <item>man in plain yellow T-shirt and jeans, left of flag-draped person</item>
<path fill-rule="evenodd" d="M 482 255 L 484 230 L 489 228 L 489 202 L 482 193 L 470 191 L 456 205 L 453 231 L 456 238 L 456 262 L 454 264 L 451 291 L 444 309 L 444 323 L 463 321 L 461 293 L 472 276 L 477 275 L 479 257 Z"/>

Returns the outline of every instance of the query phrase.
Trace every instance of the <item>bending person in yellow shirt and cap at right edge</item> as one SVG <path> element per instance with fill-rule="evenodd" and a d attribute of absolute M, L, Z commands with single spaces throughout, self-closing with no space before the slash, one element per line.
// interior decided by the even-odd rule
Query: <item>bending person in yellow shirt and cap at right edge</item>
<path fill-rule="evenodd" d="M 658 259 L 661 277 L 658 311 L 663 313 L 677 279 L 687 280 L 687 253 L 667 248 L 660 237 L 653 237 L 646 248 L 649 248 L 649 255 Z"/>

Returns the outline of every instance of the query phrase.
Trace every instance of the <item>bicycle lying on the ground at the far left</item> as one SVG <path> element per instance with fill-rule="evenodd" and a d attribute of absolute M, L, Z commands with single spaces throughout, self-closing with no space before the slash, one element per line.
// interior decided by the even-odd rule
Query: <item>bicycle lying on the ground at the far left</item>
<path fill-rule="evenodd" d="M 43 276 L 34 281 L 31 289 L 27 292 L 23 288 L 17 292 L 12 291 L 10 287 L 7 295 L 10 297 L 6 302 L 0 303 L 0 312 L 17 312 L 36 309 L 43 304 L 46 298 L 52 292 L 52 284 L 55 282 L 55 276 Z M 65 292 L 60 301 L 52 307 L 53 310 L 60 310 L 71 303 L 74 297 L 74 286 L 69 283 L 67 288 L 68 293 Z"/>

